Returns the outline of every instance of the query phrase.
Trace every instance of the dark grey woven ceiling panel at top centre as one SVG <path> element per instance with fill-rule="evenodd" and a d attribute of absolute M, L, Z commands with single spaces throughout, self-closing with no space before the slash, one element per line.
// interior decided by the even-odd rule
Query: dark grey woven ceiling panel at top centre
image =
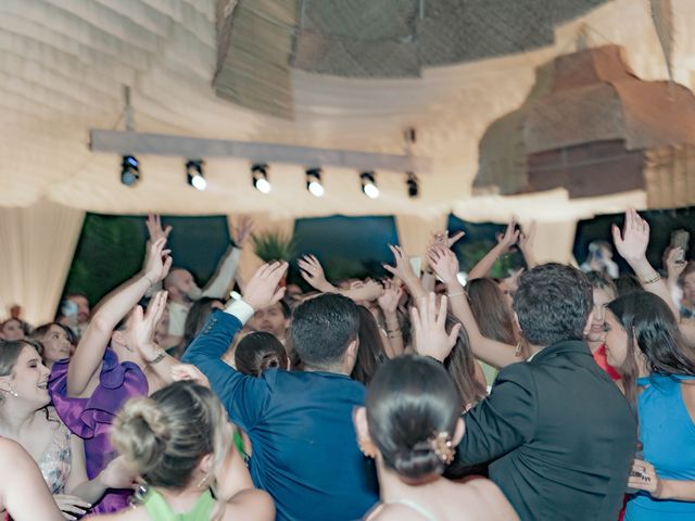
<path fill-rule="evenodd" d="M 422 67 L 552 45 L 555 25 L 606 1 L 299 0 L 293 65 L 346 77 L 419 76 Z"/>

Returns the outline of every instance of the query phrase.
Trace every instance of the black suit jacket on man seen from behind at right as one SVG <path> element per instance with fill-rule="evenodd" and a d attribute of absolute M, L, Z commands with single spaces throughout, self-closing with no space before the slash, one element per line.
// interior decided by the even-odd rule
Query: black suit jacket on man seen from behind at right
<path fill-rule="evenodd" d="M 490 478 L 522 520 L 618 519 L 637 423 L 585 343 L 504 368 L 464 420 L 459 458 L 491 461 Z"/>

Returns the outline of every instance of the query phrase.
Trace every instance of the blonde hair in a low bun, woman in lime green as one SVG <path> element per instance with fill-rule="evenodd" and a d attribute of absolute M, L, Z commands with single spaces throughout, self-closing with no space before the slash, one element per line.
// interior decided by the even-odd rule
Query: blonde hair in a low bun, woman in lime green
<path fill-rule="evenodd" d="M 113 423 L 111 441 L 148 484 L 176 490 L 189 484 L 204 456 L 213 454 L 213 469 L 218 468 L 231 444 L 231 429 L 210 389 L 181 381 L 128 401 Z"/>

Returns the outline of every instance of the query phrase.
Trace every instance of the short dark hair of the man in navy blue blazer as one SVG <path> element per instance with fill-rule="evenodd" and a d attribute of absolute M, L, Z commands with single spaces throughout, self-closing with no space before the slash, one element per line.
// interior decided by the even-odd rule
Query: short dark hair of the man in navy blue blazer
<path fill-rule="evenodd" d="M 290 339 L 304 366 L 320 369 L 339 363 L 358 331 L 357 305 L 346 296 L 326 293 L 294 309 Z"/>

